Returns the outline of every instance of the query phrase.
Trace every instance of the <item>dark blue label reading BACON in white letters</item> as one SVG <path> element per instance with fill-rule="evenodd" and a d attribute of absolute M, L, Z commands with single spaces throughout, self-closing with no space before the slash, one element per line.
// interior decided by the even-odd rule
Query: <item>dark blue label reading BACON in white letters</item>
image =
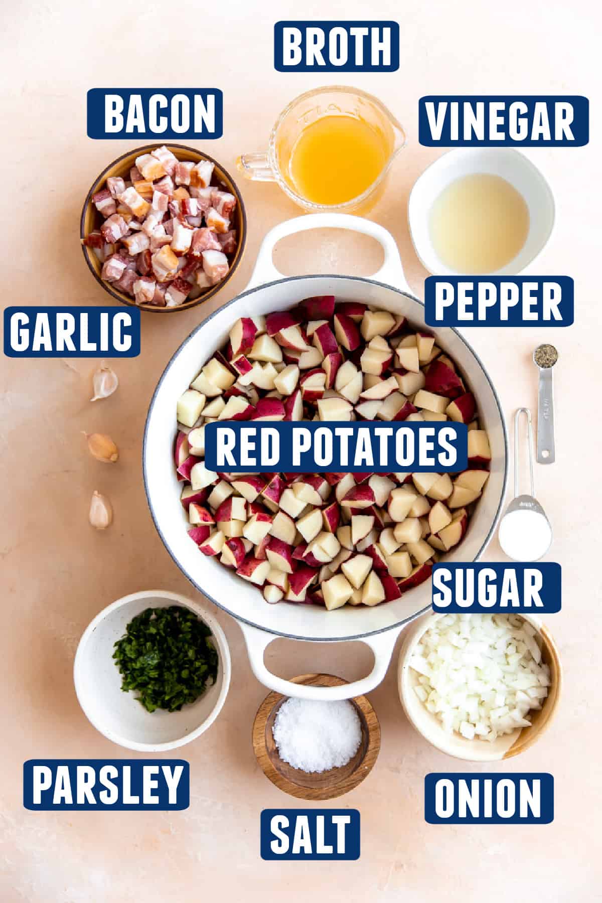
<path fill-rule="evenodd" d="M 88 138 L 221 138 L 218 88 L 90 88 Z"/>

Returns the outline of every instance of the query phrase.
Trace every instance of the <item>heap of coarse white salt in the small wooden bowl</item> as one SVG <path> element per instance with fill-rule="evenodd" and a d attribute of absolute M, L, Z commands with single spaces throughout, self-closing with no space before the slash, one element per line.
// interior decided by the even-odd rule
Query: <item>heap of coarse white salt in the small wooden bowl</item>
<path fill-rule="evenodd" d="M 287 699 L 273 721 L 273 740 L 280 758 L 292 768 L 320 772 L 353 759 L 362 729 L 355 707 L 347 700 Z"/>

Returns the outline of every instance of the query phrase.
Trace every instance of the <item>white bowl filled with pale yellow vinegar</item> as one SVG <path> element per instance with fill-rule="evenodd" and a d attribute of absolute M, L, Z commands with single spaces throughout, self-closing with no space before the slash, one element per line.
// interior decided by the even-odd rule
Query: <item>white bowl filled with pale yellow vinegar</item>
<path fill-rule="evenodd" d="M 554 198 L 518 151 L 459 148 L 414 183 L 408 222 L 416 254 L 433 274 L 516 275 L 551 235 Z"/>

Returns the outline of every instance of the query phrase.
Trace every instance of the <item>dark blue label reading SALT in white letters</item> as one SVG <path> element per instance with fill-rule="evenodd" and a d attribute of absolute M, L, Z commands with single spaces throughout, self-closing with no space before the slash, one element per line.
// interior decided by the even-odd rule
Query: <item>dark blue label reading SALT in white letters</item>
<path fill-rule="evenodd" d="M 262 859 L 359 859 L 357 809 L 264 809 Z"/>

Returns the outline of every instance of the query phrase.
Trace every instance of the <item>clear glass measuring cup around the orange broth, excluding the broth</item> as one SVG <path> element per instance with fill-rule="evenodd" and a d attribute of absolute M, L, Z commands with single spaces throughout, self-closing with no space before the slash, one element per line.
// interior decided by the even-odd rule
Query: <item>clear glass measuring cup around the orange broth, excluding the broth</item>
<path fill-rule="evenodd" d="M 349 116 L 372 130 L 382 144 L 380 172 L 365 191 L 341 203 L 320 204 L 303 197 L 291 173 L 295 144 L 308 126 L 327 116 Z M 282 110 L 273 126 L 265 153 L 241 154 L 236 165 L 247 179 L 277 182 L 300 207 L 312 213 L 366 212 L 380 197 L 394 158 L 405 145 L 405 132 L 393 114 L 377 98 L 357 88 L 315 88 L 295 98 Z"/>

